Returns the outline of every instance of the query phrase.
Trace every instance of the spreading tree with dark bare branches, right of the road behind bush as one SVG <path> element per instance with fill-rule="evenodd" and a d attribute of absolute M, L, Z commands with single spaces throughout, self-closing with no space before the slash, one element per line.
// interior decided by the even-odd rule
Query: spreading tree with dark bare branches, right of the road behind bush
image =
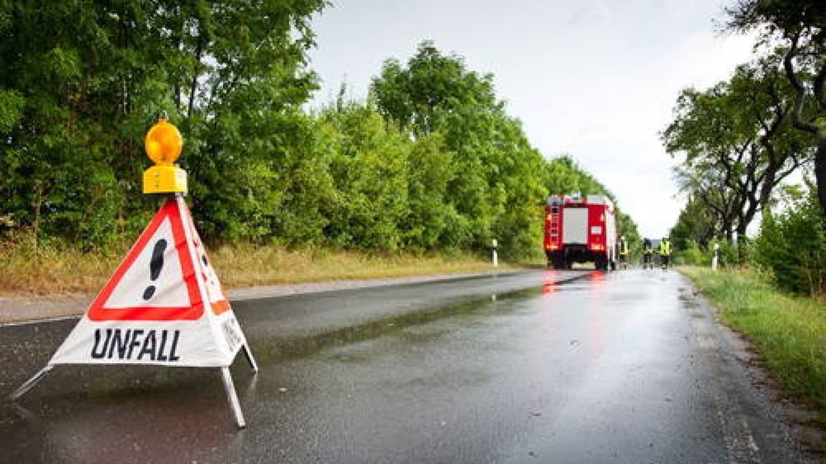
<path fill-rule="evenodd" d="M 662 132 L 668 153 L 685 154 L 676 170 L 681 187 L 705 203 L 729 239 L 745 236 L 775 187 L 811 157 L 805 137 L 790 130 L 792 92 L 778 60 L 738 66 L 705 92 L 684 90 Z"/>

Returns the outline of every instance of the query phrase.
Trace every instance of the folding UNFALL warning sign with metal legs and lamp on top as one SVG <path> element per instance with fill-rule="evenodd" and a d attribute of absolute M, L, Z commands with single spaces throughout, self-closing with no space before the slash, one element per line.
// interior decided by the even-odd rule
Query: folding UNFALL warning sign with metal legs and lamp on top
<path fill-rule="evenodd" d="M 10 400 L 59 364 L 218 367 L 235 422 L 246 426 L 229 367 L 242 350 L 253 372 L 258 365 L 183 199 L 187 173 L 174 164 L 182 148 L 165 116 L 146 133 L 154 166 L 143 192 L 164 204 L 49 363 Z"/>

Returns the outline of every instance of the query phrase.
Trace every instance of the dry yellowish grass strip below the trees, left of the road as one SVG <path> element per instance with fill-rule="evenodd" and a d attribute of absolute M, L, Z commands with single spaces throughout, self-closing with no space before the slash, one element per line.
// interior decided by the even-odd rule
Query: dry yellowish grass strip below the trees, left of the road
<path fill-rule="evenodd" d="M 72 249 L 0 244 L 0 295 L 94 293 L 112 275 L 126 250 L 81 253 Z M 240 244 L 211 250 L 227 288 L 293 282 L 481 272 L 491 263 L 470 255 L 381 255 L 333 249 L 290 250 Z M 500 268 L 509 268 L 500 264 Z"/>

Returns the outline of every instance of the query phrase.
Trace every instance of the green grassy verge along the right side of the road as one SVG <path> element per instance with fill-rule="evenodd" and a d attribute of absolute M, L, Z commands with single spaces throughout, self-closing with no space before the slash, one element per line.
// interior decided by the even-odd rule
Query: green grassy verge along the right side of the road
<path fill-rule="evenodd" d="M 826 303 L 783 294 L 749 270 L 681 272 L 714 302 L 726 324 L 751 340 L 772 376 L 819 405 L 826 424 Z"/>

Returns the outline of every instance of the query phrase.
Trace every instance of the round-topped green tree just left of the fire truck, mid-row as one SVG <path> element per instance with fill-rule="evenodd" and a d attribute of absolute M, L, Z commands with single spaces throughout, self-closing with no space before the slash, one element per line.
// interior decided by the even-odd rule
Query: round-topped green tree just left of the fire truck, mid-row
<path fill-rule="evenodd" d="M 425 41 L 407 64 L 385 62 L 370 98 L 411 140 L 436 137 L 449 153 L 444 244 L 487 249 L 496 238 L 511 257 L 537 249 L 544 159 L 496 99 L 491 74 Z"/>

